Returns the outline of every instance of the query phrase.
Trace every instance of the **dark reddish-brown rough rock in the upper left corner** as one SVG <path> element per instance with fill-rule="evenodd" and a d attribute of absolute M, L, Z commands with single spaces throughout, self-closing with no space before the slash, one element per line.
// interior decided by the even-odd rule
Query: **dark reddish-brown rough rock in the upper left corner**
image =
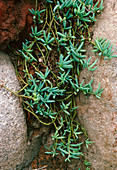
<path fill-rule="evenodd" d="M 0 49 L 28 36 L 33 22 L 29 9 L 34 7 L 35 1 L 31 0 L 0 0 Z"/>

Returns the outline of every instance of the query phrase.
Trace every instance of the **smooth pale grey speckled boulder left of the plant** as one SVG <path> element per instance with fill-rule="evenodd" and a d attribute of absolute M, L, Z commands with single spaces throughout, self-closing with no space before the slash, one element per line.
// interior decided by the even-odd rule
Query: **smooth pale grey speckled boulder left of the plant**
<path fill-rule="evenodd" d="M 14 67 L 8 55 L 0 52 L 0 84 L 19 90 Z M 0 169 L 15 169 L 24 159 L 27 125 L 18 97 L 0 87 Z"/>

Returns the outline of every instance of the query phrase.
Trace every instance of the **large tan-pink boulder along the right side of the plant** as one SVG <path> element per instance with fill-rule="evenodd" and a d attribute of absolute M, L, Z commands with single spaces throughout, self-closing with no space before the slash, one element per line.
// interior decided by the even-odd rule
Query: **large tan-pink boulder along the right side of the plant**
<path fill-rule="evenodd" d="M 115 55 L 117 55 L 117 1 L 105 0 L 104 11 L 93 27 L 93 39 L 104 37 L 111 40 Z M 97 56 L 88 47 L 87 56 L 94 60 Z M 78 117 L 85 127 L 88 136 L 94 144 L 89 150 L 84 148 L 86 159 L 92 163 L 92 170 L 117 169 L 117 58 L 109 61 L 101 59 L 98 69 L 87 73 L 83 70 L 80 82 L 89 82 L 94 78 L 93 88 L 97 89 L 99 82 L 104 88 L 101 99 L 95 96 L 86 98 L 83 94 L 77 97 L 79 106 Z"/>

